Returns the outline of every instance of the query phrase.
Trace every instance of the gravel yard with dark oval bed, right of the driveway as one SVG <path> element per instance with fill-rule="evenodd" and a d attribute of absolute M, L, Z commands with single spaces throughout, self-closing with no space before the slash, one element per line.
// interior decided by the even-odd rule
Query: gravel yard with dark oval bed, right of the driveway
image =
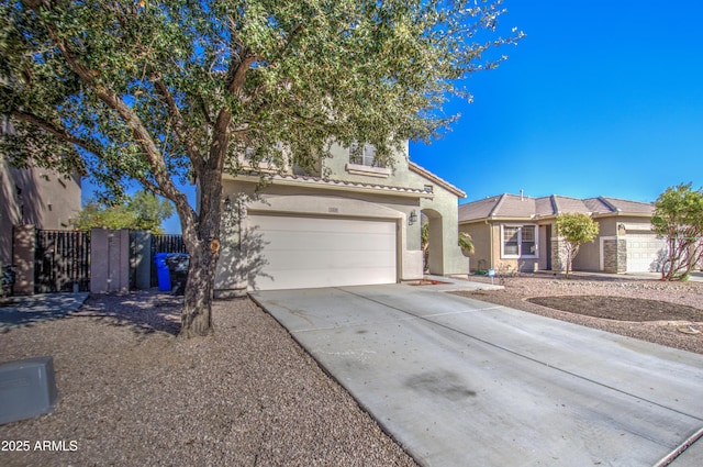
<path fill-rule="evenodd" d="M 470 279 L 491 282 L 480 276 Z M 504 278 L 501 285 L 504 290 L 455 293 L 703 354 L 701 281 L 665 282 L 576 273 L 569 279 L 524 274 Z"/>

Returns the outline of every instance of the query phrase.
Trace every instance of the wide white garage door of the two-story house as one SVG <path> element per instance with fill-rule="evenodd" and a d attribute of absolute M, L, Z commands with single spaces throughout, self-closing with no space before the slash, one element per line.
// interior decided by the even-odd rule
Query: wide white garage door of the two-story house
<path fill-rule="evenodd" d="M 264 265 L 257 290 L 393 283 L 394 221 L 250 215 Z"/>

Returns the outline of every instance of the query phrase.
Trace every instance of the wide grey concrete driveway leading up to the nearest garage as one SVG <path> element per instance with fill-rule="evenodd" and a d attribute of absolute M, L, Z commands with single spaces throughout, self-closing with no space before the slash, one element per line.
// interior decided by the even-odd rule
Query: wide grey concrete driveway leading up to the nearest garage
<path fill-rule="evenodd" d="M 665 465 L 703 427 L 703 355 L 434 286 L 253 298 L 424 466 Z"/>

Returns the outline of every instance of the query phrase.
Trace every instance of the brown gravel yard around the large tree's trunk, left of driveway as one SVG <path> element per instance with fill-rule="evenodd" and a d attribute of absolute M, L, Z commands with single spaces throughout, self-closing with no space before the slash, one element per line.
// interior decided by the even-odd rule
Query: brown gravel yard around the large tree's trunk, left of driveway
<path fill-rule="evenodd" d="M 96 296 L 0 334 L 0 362 L 53 355 L 60 393 L 54 413 L 0 426 L 0 441 L 30 446 L 0 465 L 415 465 L 250 300 L 215 302 L 215 335 L 190 341 L 176 337 L 179 307 L 154 291 Z"/>

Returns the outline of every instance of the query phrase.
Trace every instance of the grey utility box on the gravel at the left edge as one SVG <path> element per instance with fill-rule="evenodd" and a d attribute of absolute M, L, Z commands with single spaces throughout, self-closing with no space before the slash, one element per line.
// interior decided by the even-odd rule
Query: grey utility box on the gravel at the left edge
<path fill-rule="evenodd" d="M 49 413 L 57 397 L 54 357 L 0 364 L 0 425 Z"/>

